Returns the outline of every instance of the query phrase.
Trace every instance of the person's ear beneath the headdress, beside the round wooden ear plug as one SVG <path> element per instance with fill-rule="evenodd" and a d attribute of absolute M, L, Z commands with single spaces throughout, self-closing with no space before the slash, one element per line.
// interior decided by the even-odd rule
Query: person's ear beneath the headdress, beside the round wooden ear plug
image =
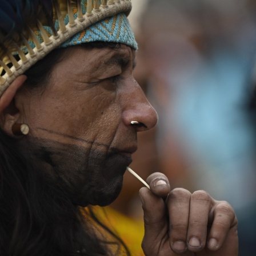
<path fill-rule="evenodd" d="M 26 81 L 26 75 L 15 78 L 0 98 L 0 127 L 9 135 L 13 135 L 11 127 L 19 118 L 19 112 L 15 109 L 13 99 L 17 90 Z M 14 110 L 15 109 L 15 110 Z"/>

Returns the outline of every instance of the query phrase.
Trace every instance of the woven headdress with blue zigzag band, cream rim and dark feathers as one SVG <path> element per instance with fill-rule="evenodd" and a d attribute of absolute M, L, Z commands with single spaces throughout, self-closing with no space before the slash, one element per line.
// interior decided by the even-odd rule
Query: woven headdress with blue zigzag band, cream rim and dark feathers
<path fill-rule="evenodd" d="M 0 97 L 57 47 L 108 41 L 136 49 L 130 10 L 131 0 L 1 0 Z"/>

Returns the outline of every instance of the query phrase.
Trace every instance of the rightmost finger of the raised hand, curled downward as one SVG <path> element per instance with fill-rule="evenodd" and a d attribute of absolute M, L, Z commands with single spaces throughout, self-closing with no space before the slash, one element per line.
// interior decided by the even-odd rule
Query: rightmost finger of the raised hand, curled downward
<path fill-rule="evenodd" d="M 233 208 L 225 201 L 214 202 L 215 205 L 210 214 L 210 219 L 213 219 L 213 223 L 207 244 L 209 250 L 218 250 L 226 241 L 227 235 L 233 236 L 234 240 L 237 237 L 238 221 Z M 233 246 L 236 247 L 237 245 Z"/>

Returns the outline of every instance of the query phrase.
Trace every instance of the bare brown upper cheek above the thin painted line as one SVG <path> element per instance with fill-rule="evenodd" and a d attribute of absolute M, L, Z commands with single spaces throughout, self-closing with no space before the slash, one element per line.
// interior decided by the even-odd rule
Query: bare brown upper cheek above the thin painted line
<path fill-rule="evenodd" d="M 109 141 L 121 119 L 115 94 L 101 91 L 97 94 L 86 93 L 31 104 L 26 110 L 29 113 L 26 117 L 33 135 L 42 138 L 48 131 L 88 138 L 90 141 L 105 137 L 105 142 Z M 50 138 L 53 138 L 52 135 Z"/>

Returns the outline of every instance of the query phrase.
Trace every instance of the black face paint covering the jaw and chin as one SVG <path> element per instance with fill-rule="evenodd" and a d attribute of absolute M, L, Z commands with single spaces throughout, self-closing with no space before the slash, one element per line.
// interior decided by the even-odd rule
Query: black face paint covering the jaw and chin
<path fill-rule="evenodd" d="M 118 197 L 130 157 L 114 149 L 105 153 L 37 138 L 33 145 L 31 152 L 47 180 L 69 195 L 75 205 L 106 206 Z"/>

